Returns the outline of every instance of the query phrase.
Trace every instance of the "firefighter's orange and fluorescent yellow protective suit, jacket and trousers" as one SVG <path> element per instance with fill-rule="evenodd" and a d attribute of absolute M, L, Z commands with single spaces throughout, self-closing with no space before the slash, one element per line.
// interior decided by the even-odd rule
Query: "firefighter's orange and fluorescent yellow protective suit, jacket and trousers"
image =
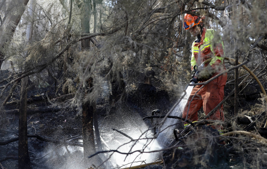
<path fill-rule="evenodd" d="M 202 30 L 202 35 L 198 36 L 196 41 L 192 44 L 191 70 L 193 70 L 195 65 L 201 65 L 203 61 L 212 58 L 212 60 L 205 65 L 212 68 L 214 72 L 210 77 L 212 78 L 225 70 L 224 46 L 220 35 L 215 34 L 213 29 L 203 28 Z M 226 80 L 227 73 L 212 80 L 202 89 L 200 89 L 201 85 L 195 86 L 183 110 L 182 117 L 189 121 L 198 121 L 198 110 L 202 106 L 207 115 L 223 100 Z M 223 106 L 221 105 L 208 119 L 224 121 Z"/>

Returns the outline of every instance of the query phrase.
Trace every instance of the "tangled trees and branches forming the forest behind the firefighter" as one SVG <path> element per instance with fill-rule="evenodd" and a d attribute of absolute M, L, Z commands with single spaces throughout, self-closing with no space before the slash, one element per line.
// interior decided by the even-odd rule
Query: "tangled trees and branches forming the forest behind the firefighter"
<path fill-rule="evenodd" d="M 263 0 L 1 0 L 0 127 L 6 129 L 18 109 L 18 168 L 32 168 L 26 112 L 33 96 L 53 111 L 81 117 L 84 157 L 97 151 L 98 116 L 116 114 L 123 103 L 138 99 L 136 90 L 154 99 L 168 95 L 168 104 L 142 104 L 144 112 L 166 114 L 190 80 L 195 37 L 183 29 L 183 16 L 193 10 L 222 37 L 225 56 L 235 61 L 226 61 L 227 69 L 244 62 L 263 83 L 262 89 L 240 67 L 228 72 L 225 96 L 235 89 L 235 97 L 225 104 L 227 121 L 244 110 L 251 116 L 266 111 L 266 5 Z M 253 101 L 240 103 L 240 97 Z"/>

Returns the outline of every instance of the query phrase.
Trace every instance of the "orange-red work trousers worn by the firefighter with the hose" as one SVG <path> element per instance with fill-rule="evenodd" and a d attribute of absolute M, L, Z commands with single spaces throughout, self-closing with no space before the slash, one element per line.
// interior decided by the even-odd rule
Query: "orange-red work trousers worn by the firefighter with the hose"
<path fill-rule="evenodd" d="M 217 75 L 217 73 L 212 77 L 215 75 Z M 200 89 L 202 85 L 195 86 L 183 110 L 183 118 L 189 121 L 198 121 L 198 110 L 202 106 L 206 115 L 215 108 L 223 100 L 226 80 L 227 73 L 212 80 L 202 89 Z M 199 89 L 200 91 L 198 91 Z M 195 97 L 193 98 L 194 95 Z M 221 105 L 208 119 L 224 121 L 223 106 Z"/>

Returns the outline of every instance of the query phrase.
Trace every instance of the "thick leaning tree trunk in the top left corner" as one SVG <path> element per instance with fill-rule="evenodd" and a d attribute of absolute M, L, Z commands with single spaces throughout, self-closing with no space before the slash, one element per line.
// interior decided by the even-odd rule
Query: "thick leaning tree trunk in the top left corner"
<path fill-rule="evenodd" d="M 16 30 L 28 1 L 29 0 L 16 0 L 10 2 L 7 13 L 0 26 L 0 48 L 2 48 L 6 42 L 11 40 L 10 37 L 12 37 L 13 32 Z M 1 59 L 4 59 L 4 56 L 0 53 L 0 60 Z"/>

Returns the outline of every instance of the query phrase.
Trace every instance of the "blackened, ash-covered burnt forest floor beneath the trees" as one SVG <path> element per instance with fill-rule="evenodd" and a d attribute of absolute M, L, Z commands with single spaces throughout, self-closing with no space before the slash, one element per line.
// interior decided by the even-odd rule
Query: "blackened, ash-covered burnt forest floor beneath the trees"
<path fill-rule="evenodd" d="M 264 84 L 266 88 L 266 84 Z M 233 84 L 225 86 L 225 95 L 233 89 Z M 39 94 L 38 94 L 39 93 Z M 62 109 L 53 107 L 45 97 L 40 95 L 42 91 L 28 93 L 28 134 L 37 134 L 54 140 L 67 140 L 73 136 L 82 135 L 81 116 L 78 110 Z M 52 93 L 52 91 L 51 91 Z M 239 97 L 240 112 L 247 115 L 255 115 L 261 111 L 259 98 L 260 90 L 257 83 L 253 82 Z M 125 129 L 123 132 L 132 130 L 129 124 L 138 129 L 140 124 L 136 117 L 142 119 L 150 116 L 151 111 L 161 110 L 164 115 L 168 112 L 176 100 L 176 96 L 165 90 L 156 89 L 153 86 L 140 84 L 136 90 L 129 92 L 125 102 L 116 107 L 110 107 L 105 99 L 99 99 L 97 103 L 98 122 L 100 131 L 107 138 L 114 132 L 111 128 Z M 7 124 L 1 131 L 1 141 L 17 137 L 18 133 L 18 105 L 14 96 L 7 104 Z M 233 97 L 225 102 L 225 119 L 232 122 Z M 199 117 L 203 117 L 203 110 L 199 111 Z M 116 121 L 116 122 L 115 122 Z M 117 123 L 119 121 L 119 123 Z M 140 121 L 140 120 L 139 120 Z M 141 120 L 142 121 L 142 120 Z M 155 122 L 155 121 L 154 121 Z M 142 123 L 151 126 L 150 121 Z M 240 124 L 237 127 L 242 128 Z M 266 166 L 266 148 L 254 141 L 247 143 L 243 140 L 243 147 L 236 146 L 237 140 L 226 140 L 226 145 L 219 144 L 219 137 L 210 127 L 196 128 L 189 135 L 182 138 L 179 144 L 163 151 L 161 158 L 163 164 L 147 166 L 146 169 L 161 168 L 258 168 Z M 229 130 L 228 130 L 229 131 Z M 131 133 L 131 132 L 129 132 Z M 199 134 L 201 133 L 201 134 Z M 129 134 L 131 136 L 131 134 Z M 117 137 L 117 136 L 116 136 Z M 115 136 L 112 138 L 116 138 Z M 120 136 L 124 137 L 124 136 Z M 103 139 L 106 139 L 103 136 Z M 245 145 L 245 149 L 244 149 Z M 105 145 L 104 145 L 105 146 Z M 266 146 L 266 144 L 265 144 Z M 234 147 L 234 148 L 233 148 Z M 233 151 L 232 151 L 232 149 Z M 242 150 L 240 150 L 242 148 Z M 257 149 L 260 148 L 258 152 Z M 33 168 L 86 168 L 82 166 L 82 153 L 73 146 L 68 147 L 70 153 L 62 144 L 45 142 L 36 138 L 28 139 L 28 149 Z M 230 149 L 230 150 L 229 150 Z M 253 151 L 250 151 L 250 150 Z M 239 152 L 241 151 L 241 152 Z M 0 146 L 0 160 L 8 156 L 17 156 L 18 141 Z M 249 154 L 253 152 L 254 154 Z M 263 156 L 256 158 L 255 154 Z M 252 157 L 253 156 L 253 157 Z M 74 159 L 75 158 L 75 159 Z M 264 162 L 265 160 L 265 162 Z M 74 162 L 75 161 L 75 162 Z M 73 164 L 72 164 L 73 163 Z M 75 164 L 74 164 L 75 163 Z M 5 168 L 17 168 L 16 159 L 8 159 L 1 162 Z M 88 166 L 87 166 L 88 167 Z"/>

